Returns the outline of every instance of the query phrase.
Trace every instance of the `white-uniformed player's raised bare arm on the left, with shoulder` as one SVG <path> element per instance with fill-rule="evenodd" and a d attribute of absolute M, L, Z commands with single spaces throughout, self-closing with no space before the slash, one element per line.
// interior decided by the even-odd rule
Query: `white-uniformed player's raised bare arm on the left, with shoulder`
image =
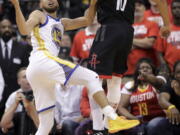
<path fill-rule="evenodd" d="M 19 32 L 22 35 L 29 35 L 32 29 L 40 23 L 41 12 L 38 10 L 32 12 L 29 16 L 29 19 L 26 21 L 20 8 L 19 0 L 10 0 L 10 1 L 12 2 L 15 8 L 16 23 L 17 23 Z"/>

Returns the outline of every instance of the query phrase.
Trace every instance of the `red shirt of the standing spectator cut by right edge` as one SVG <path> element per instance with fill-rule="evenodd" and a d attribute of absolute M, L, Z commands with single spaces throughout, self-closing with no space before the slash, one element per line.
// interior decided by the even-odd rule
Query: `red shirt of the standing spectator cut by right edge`
<path fill-rule="evenodd" d="M 164 54 L 169 67 L 180 60 L 180 26 L 171 25 L 171 33 L 167 39 L 158 38 L 156 49 Z"/>

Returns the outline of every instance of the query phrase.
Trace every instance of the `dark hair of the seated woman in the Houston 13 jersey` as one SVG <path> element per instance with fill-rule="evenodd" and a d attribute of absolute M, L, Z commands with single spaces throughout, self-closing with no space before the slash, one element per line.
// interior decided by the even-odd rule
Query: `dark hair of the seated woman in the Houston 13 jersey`
<path fill-rule="evenodd" d="M 136 69 L 135 69 L 135 72 L 134 72 L 134 75 L 133 75 L 134 86 L 129 89 L 130 91 L 136 91 L 138 85 L 139 85 L 140 82 L 141 82 L 141 81 L 138 79 L 138 76 L 140 75 L 139 69 L 140 69 L 140 65 L 141 65 L 142 63 L 147 63 L 147 64 L 149 64 L 150 67 L 152 68 L 152 73 L 155 75 L 156 68 L 155 68 L 152 60 L 151 60 L 150 58 L 142 58 L 142 59 L 140 59 L 140 60 L 137 62 L 137 64 L 136 64 Z"/>

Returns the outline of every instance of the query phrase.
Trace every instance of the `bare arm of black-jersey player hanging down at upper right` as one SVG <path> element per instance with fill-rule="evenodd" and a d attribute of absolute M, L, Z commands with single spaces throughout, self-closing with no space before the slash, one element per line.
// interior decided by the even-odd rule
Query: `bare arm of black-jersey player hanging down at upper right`
<path fill-rule="evenodd" d="M 159 9 L 159 12 L 163 18 L 164 27 L 161 28 L 161 35 L 163 37 L 167 37 L 170 34 L 170 19 L 168 13 L 168 6 L 166 0 L 153 0 Z"/>

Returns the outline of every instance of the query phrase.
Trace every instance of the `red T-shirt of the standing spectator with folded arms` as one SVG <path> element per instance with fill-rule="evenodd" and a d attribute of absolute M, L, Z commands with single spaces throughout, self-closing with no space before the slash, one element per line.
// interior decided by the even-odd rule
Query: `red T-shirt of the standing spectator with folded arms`
<path fill-rule="evenodd" d="M 146 19 L 144 19 L 140 23 L 134 23 L 133 27 L 134 27 L 134 37 L 139 39 L 141 38 L 143 39 L 145 37 L 157 37 L 159 33 L 158 25 Z M 144 57 L 151 58 L 155 64 L 157 63 L 156 53 L 153 47 L 149 49 L 141 49 L 141 48 L 133 49 L 128 55 L 128 61 L 127 61 L 128 71 L 125 73 L 125 75 L 134 74 L 136 63 L 138 62 L 139 59 Z"/>

